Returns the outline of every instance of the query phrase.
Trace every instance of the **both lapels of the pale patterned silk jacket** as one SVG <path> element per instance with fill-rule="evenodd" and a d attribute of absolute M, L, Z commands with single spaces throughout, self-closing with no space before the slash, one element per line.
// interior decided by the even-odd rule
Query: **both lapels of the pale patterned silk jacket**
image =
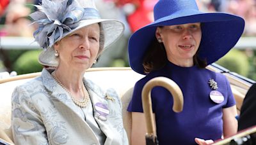
<path fill-rule="evenodd" d="M 68 97 L 67 91 L 64 90 L 51 76 L 51 72 L 53 70 L 47 71 L 47 69 L 43 69 L 42 71 L 42 81 L 45 88 L 49 91 L 51 94 L 52 99 L 57 100 L 65 104 L 69 109 L 71 109 L 74 114 L 77 114 L 77 117 L 79 117 L 81 120 L 84 121 L 83 118 L 79 116 L 79 114 L 76 112 L 77 107 L 74 104 L 73 100 Z M 108 115 L 106 115 L 106 120 L 102 118 L 102 112 L 105 112 L 108 114 L 109 108 L 108 108 L 108 102 L 106 99 L 106 92 L 102 91 L 99 86 L 92 83 L 92 81 L 83 79 L 84 84 L 86 86 L 86 89 L 88 90 L 88 93 L 90 95 L 90 99 L 92 100 L 92 106 L 93 106 L 93 115 L 95 120 L 97 121 L 100 130 L 106 135 L 106 141 L 105 144 L 111 144 L 113 141 L 113 133 L 111 132 L 111 129 L 109 129 L 109 121 L 108 121 Z M 104 106 L 104 107 L 103 107 Z M 107 108 L 106 108 L 107 107 Z M 100 110 L 101 109 L 101 112 Z M 103 109 L 103 110 L 102 110 Z M 104 116 L 103 116 L 104 117 Z M 84 121 L 86 123 L 86 121 Z M 88 123 L 86 125 L 89 127 Z"/>

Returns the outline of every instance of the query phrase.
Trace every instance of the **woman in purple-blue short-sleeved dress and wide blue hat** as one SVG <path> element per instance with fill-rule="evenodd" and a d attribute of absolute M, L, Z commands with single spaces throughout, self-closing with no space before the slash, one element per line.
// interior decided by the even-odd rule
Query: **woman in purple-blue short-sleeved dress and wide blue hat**
<path fill-rule="evenodd" d="M 129 61 L 146 76 L 134 86 L 132 144 L 145 144 L 141 90 L 157 76 L 172 79 L 184 95 L 180 113 L 172 111 L 172 94 L 157 86 L 151 92 L 159 144 L 211 144 L 236 134 L 236 101 L 229 82 L 205 67 L 223 57 L 241 37 L 244 20 L 227 13 L 198 11 L 194 0 L 160 0 L 155 21 L 132 34 Z M 213 140 L 213 141 L 212 141 Z"/>

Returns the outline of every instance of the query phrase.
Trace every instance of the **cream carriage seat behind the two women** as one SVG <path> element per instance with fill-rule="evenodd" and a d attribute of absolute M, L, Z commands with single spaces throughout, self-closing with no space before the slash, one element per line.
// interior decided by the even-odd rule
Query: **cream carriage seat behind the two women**
<path fill-rule="evenodd" d="M 11 97 L 15 86 L 22 85 L 26 81 L 39 76 L 40 72 L 24 74 L 12 78 L 0 79 L 0 138 L 11 142 Z M 143 77 L 130 67 L 99 67 L 91 68 L 86 72 L 86 78 L 92 80 L 102 88 L 114 88 L 122 100 L 124 127 L 130 141 L 131 113 L 127 112 L 127 106 L 131 100 L 132 88 L 136 81 Z"/>

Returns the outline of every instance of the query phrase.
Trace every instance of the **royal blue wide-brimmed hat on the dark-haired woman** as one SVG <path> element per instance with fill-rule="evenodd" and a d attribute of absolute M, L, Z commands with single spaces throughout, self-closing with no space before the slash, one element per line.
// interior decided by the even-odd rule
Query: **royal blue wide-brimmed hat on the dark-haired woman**
<path fill-rule="evenodd" d="M 198 10 L 194 0 L 159 0 L 154 6 L 154 22 L 142 27 L 129 39 L 129 63 L 140 74 L 143 57 L 155 39 L 158 26 L 201 22 L 202 39 L 198 57 L 207 65 L 216 62 L 233 48 L 244 30 L 241 17 L 227 13 L 205 13 Z"/>

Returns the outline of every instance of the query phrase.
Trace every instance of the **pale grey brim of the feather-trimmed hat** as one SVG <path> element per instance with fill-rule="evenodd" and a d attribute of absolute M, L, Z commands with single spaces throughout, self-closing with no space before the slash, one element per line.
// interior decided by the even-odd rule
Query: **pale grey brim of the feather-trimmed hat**
<path fill-rule="evenodd" d="M 63 34 L 62 38 L 64 38 L 68 34 L 71 34 L 74 31 L 77 31 L 78 29 L 81 29 L 88 25 L 97 24 L 97 23 L 101 24 L 102 29 L 104 31 L 104 49 L 103 49 L 104 51 L 108 46 L 110 46 L 118 38 L 120 38 L 120 36 L 122 36 L 124 32 L 124 24 L 122 24 L 122 22 L 118 20 L 109 20 L 109 19 L 81 20 L 79 26 L 76 27 L 76 29 L 66 32 L 65 34 Z M 44 66 L 57 67 L 59 62 L 58 62 L 58 58 L 55 57 L 54 53 L 55 52 L 54 52 L 53 46 L 49 46 L 49 48 L 43 50 L 40 53 L 38 57 L 38 62 Z"/>

